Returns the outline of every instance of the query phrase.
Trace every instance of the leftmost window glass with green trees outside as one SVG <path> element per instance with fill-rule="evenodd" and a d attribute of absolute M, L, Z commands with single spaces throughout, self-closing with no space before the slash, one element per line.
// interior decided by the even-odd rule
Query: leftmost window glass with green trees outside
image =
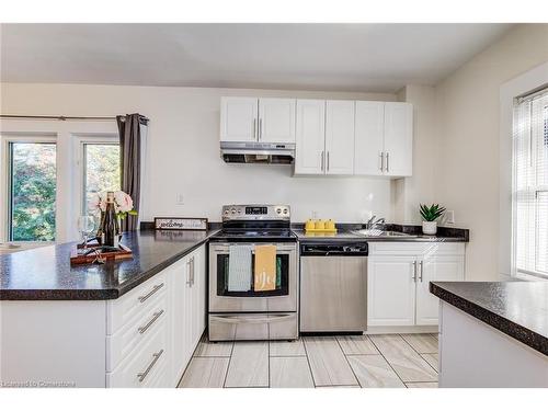
<path fill-rule="evenodd" d="M 54 241 L 56 145 L 8 144 L 9 241 Z"/>

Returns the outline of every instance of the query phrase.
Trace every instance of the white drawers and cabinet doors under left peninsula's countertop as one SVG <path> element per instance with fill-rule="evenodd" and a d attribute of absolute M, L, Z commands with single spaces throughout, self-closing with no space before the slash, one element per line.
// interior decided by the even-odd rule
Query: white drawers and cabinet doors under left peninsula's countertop
<path fill-rule="evenodd" d="M 205 278 L 202 246 L 107 305 L 107 387 L 176 387 L 205 329 Z"/>

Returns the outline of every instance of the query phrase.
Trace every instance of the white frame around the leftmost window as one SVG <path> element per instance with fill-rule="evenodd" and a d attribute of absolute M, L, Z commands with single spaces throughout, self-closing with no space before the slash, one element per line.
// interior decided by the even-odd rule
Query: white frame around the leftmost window
<path fill-rule="evenodd" d="M 0 242 L 10 242 L 16 244 L 27 244 L 32 246 L 47 246 L 53 244 L 55 241 L 13 241 L 10 240 L 10 230 L 11 230 L 11 150 L 10 145 L 13 142 L 22 142 L 22 144 L 55 144 L 56 146 L 56 156 L 55 156 L 55 168 L 56 168 L 56 190 L 55 196 L 56 202 L 59 197 L 59 172 L 58 172 L 58 161 L 59 161 L 59 152 L 58 152 L 58 139 L 55 134 L 34 134 L 34 133 L 25 133 L 25 134 L 4 134 L 0 135 L 0 159 L 2 163 L 2 168 L 0 170 L 1 174 L 1 197 L 7 198 L 7 201 L 1 202 L 0 204 Z M 57 240 L 57 213 L 56 213 L 56 240 Z"/>

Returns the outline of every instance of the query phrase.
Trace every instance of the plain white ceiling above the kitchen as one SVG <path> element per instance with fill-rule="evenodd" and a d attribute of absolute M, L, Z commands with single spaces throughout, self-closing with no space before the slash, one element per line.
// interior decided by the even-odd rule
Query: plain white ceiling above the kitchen
<path fill-rule="evenodd" d="M 1 80 L 395 92 L 510 24 L 2 24 Z"/>

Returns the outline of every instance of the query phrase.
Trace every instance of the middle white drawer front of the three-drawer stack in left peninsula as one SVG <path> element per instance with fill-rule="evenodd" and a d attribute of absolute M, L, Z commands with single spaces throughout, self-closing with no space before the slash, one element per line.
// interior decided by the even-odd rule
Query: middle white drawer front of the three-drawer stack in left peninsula
<path fill-rule="evenodd" d="M 169 307 L 167 296 L 159 296 L 151 307 L 106 338 L 106 372 L 112 372 L 133 351 L 146 343 L 158 329 L 167 332 Z"/>

